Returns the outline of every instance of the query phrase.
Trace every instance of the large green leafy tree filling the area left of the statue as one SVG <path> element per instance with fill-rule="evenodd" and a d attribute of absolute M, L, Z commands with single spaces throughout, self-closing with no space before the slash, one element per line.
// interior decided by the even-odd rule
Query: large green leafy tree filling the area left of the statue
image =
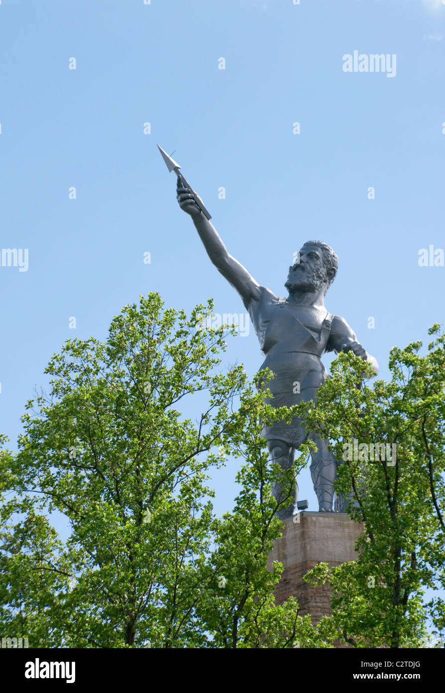
<path fill-rule="evenodd" d="M 3 632 L 31 647 L 332 647 L 332 623 L 314 629 L 295 599 L 275 606 L 281 566 L 267 570 L 282 525 L 259 432 L 291 414 L 265 406 L 241 366 L 221 372 L 225 332 L 203 329 L 207 310 L 188 318 L 150 294 L 107 342 L 53 356 L 19 453 L 0 455 Z M 226 454 L 244 459 L 242 490 L 217 518 L 208 473 Z"/>

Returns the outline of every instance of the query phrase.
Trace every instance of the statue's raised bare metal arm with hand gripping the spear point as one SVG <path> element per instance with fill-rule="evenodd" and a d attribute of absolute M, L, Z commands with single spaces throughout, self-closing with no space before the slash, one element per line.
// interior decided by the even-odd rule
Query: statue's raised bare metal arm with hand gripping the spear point
<path fill-rule="evenodd" d="M 194 201 L 190 188 L 185 188 L 181 184 L 181 178 L 178 178 L 176 193 L 179 207 L 192 217 L 193 223 L 197 227 L 199 238 L 201 238 L 210 260 L 223 277 L 237 290 L 242 297 L 244 306 L 248 308 L 253 299 L 258 300 L 260 298 L 260 287 L 257 282 L 248 273 L 246 267 L 243 267 L 241 263 L 228 253 L 217 230 L 206 219 L 206 216 L 204 216 Z M 198 198 L 196 193 L 194 195 Z"/>

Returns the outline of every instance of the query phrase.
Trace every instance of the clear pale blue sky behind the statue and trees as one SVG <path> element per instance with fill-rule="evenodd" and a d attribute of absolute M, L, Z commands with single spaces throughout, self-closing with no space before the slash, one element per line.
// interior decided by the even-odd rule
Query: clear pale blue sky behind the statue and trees
<path fill-rule="evenodd" d="M 176 150 L 229 251 L 278 295 L 305 240 L 334 247 L 327 308 L 381 376 L 390 347 L 444 322 L 445 267 L 418 264 L 419 249 L 445 247 L 444 22 L 440 0 L 3 0 L 0 245 L 29 249 L 27 272 L 0 267 L 11 447 L 51 355 L 69 337 L 105 340 L 140 294 L 245 312 L 156 143 Z M 396 55 L 396 75 L 346 73 L 355 50 Z M 230 340 L 236 359 L 250 375 L 260 367 L 253 330 Z M 215 477 L 218 512 L 235 471 Z M 309 471 L 299 481 L 316 509 Z"/>

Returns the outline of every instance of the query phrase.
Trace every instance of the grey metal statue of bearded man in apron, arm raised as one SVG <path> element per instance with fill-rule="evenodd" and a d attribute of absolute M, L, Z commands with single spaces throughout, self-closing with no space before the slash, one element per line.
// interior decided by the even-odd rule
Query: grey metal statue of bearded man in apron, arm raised
<path fill-rule="evenodd" d="M 345 319 L 331 315 L 325 308 L 325 294 L 338 269 L 338 257 L 329 245 L 309 240 L 302 246 L 296 263 L 289 267 L 284 284 L 289 295 L 279 298 L 266 286 L 260 286 L 228 253 L 215 227 L 195 202 L 201 203 L 201 198 L 184 186 L 180 177 L 176 193 L 181 209 L 192 217 L 210 260 L 239 293 L 248 310 L 265 356 L 261 369 L 269 367 L 275 374 L 268 384 L 273 394 L 268 403 L 274 407 L 291 407 L 301 401 L 315 401 L 318 387 L 329 377 L 320 358 L 327 351 L 353 351 L 368 360 L 378 372 L 375 358 L 363 349 Z M 296 387 L 296 383 L 300 387 Z M 276 421 L 272 426 L 264 426 L 262 436 L 267 439 L 271 459 L 280 462 L 282 469 L 293 465 L 296 450 L 303 442 L 314 440 L 317 451 L 311 451 L 310 469 L 318 509 L 320 512 L 345 511 L 347 499 L 341 496 L 335 498 L 333 509 L 334 480 L 341 462 L 328 450 L 327 441 L 314 434 L 308 435 L 304 421 L 297 416 L 291 423 Z M 272 492 L 275 498 L 282 500 L 279 478 Z M 296 482 L 293 502 L 278 513 L 282 520 L 295 514 L 297 498 Z"/>

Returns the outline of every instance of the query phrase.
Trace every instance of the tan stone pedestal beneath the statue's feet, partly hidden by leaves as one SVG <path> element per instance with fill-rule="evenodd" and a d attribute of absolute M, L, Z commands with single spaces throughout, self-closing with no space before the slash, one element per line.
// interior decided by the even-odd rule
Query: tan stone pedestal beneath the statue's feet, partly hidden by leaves
<path fill-rule="evenodd" d="M 303 511 L 295 518 L 284 520 L 284 531 L 275 541 L 269 554 L 269 565 L 280 561 L 284 570 L 275 590 L 275 602 L 282 604 L 287 597 L 297 597 L 300 615 L 311 615 L 315 625 L 324 615 L 331 614 L 332 590 L 327 584 L 314 587 L 302 576 L 317 563 L 340 565 L 356 561 L 356 539 L 363 534 L 363 525 L 343 513 L 314 513 Z"/>

